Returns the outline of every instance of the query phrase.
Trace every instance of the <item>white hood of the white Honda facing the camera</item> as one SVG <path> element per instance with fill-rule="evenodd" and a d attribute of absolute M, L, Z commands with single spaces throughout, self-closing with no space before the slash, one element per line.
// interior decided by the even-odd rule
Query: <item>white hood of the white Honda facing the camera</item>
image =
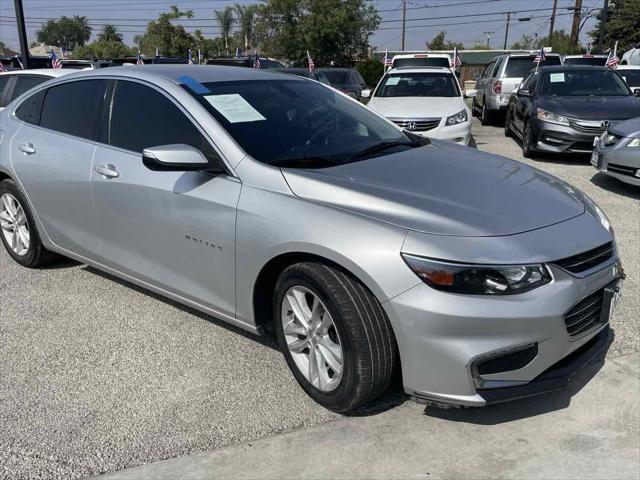
<path fill-rule="evenodd" d="M 367 106 L 388 118 L 442 118 L 465 108 L 461 97 L 374 97 Z"/>

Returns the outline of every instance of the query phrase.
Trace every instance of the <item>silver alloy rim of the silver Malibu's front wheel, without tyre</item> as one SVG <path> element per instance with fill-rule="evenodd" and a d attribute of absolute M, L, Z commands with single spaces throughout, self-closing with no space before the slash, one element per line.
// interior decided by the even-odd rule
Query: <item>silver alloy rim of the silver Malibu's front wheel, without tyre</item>
<path fill-rule="evenodd" d="M 282 330 L 300 373 L 315 388 L 331 392 L 340 384 L 343 350 L 331 314 L 308 288 L 291 287 L 282 299 Z"/>

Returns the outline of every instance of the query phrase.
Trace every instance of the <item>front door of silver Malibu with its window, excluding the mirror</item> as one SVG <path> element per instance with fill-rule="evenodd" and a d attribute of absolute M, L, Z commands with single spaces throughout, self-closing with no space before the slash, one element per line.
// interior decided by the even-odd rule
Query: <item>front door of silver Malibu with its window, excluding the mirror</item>
<path fill-rule="evenodd" d="M 115 83 L 108 145 L 91 172 L 103 263 L 235 315 L 235 221 L 241 183 L 203 172 L 151 171 L 145 148 L 187 144 L 212 162 L 211 141 L 154 86 Z"/>

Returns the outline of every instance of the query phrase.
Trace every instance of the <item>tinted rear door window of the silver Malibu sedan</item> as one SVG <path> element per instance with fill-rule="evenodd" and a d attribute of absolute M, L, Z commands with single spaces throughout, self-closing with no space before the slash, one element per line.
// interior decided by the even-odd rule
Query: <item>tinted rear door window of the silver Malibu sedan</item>
<path fill-rule="evenodd" d="M 107 80 L 81 80 L 47 90 L 40 126 L 98 141 Z"/>

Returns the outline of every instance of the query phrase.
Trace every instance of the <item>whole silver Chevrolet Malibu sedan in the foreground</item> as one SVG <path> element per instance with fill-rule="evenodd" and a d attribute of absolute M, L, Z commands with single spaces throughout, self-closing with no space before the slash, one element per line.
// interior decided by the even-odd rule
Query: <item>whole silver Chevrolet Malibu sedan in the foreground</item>
<path fill-rule="evenodd" d="M 74 73 L 0 116 L 0 224 L 277 337 L 318 403 L 396 375 L 424 402 L 560 388 L 605 346 L 623 273 L 580 191 L 404 132 L 318 82 L 157 65 Z"/>

